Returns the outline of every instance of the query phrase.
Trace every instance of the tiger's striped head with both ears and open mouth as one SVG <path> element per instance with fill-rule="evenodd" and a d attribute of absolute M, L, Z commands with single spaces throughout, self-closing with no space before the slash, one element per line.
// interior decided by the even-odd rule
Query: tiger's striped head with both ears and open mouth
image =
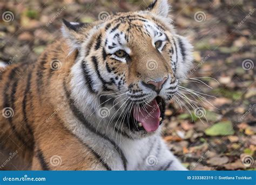
<path fill-rule="evenodd" d="M 123 122 L 114 129 L 133 136 L 159 130 L 165 102 L 192 63 L 192 46 L 176 34 L 168 13 L 167 0 L 157 0 L 94 23 L 64 20 L 63 35 L 78 51 L 72 97 L 84 113 L 106 108 L 107 122 Z"/>

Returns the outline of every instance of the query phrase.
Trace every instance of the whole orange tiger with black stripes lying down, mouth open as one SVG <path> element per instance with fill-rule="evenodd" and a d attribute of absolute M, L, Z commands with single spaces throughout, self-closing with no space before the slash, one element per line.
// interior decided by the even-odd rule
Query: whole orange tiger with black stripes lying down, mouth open
<path fill-rule="evenodd" d="M 1 170 L 186 170 L 161 137 L 193 62 L 169 11 L 63 19 L 37 61 L 2 66 Z"/>

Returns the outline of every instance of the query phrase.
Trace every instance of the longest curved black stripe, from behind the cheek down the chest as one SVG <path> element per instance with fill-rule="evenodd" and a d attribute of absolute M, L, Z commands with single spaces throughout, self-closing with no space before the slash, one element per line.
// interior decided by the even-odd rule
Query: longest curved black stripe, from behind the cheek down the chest
<path fill-rule="evenodd" d="M 75 117 L 81 121 L 83 123 L 83 125 L 89 129 L 89 131 L 91 131 L 92 133 L 95 133 L 96 135 L 99 135 L 100 137 L 106 139 L 107 141 L 111 142 L 113 146 L 116 145 L 116 143 L 114 143 L 114 141 L 112 141 L 110 138 L 108 138 L 107 136 L 105 136 L 104 134 L 100 133 L 100 132 L 97 132 L 97 130 L 91 126 L 91 124 L 89 122 L 87 122 L 87 120 L 84 118 L 84 115 L 82 112 L 80 112 L 78 110 L 78 108 L 75 106 L 74 104 L 74 101 L 73 99 L 71 99 L 70 97 L 70 92 L 68 91 L 68 89 L 66 88 L 66 84 L 65 84 L 65 81 L 64 81 L 64 90 L 65 90 L 65 93 L 66 93 L 66 98 L 69 100 L 69 106 L 70 106 L 70 109 L 72 111 L 72 113 L 75 115 Z M 125 158 L 124 156 L 124 153 L 123 151 L 118 147 L 116 146 L 116 150 L 117 152 L 120 152 L 120 157 L 123 161 L 123 165 L 124 165 L 124 169 L 126 170 L 126 163 L 127 163 L 127 159 Z"/>

